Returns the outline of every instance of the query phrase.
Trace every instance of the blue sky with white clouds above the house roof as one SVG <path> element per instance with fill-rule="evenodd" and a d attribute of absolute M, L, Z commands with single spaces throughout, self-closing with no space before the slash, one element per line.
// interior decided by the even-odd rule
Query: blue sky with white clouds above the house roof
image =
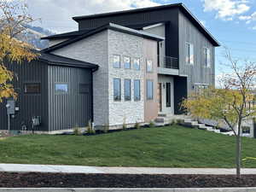
<path fill-rule="evenodd" d="M 218 41 L 236 57 L 256 61 L 256 0 L 24 0 L 37 24 L 54 32 L 77 30 L 73 16 L 184 3 Z M 216 50 L 218 63 L 223 49 Z"/>

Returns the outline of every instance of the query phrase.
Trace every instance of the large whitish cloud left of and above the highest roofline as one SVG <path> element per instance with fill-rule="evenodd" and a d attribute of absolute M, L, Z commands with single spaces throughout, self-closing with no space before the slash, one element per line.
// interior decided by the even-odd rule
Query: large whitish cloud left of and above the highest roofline
<path fill-rule="evenodd" d="M 26 0 L 31 14 L 42 26 L 57 32 L 77 29 L 73 16 L 160 5 L 154 0 Z"/>

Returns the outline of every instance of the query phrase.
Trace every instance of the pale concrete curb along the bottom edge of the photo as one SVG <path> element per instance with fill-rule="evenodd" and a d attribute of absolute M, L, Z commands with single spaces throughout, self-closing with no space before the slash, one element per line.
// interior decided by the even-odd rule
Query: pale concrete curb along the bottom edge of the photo
<path fill-rule="evenodd" d="M 0 188 L 0 192 L 256 192 L 256 188 Z"/>

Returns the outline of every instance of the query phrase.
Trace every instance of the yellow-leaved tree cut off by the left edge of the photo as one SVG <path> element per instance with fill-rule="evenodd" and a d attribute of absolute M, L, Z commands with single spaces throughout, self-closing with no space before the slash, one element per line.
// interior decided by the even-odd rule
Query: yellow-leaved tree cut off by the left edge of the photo
<path fill-rule="evenodd" d="M 32 45 L 16 39 L 16 36 L 26 32 L 26 25 L 32 21 L 25 3 L 0 0 L 0 102 L 3 98 L 16 96 L 11 84 L 14 74 L 8 70 L 6 63 L 20 64 L 38 56 L 32 52 Z"/>

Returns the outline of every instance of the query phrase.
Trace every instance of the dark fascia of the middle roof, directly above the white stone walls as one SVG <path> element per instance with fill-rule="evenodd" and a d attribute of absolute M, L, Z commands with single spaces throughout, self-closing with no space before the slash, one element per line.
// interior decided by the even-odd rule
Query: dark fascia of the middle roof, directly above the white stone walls
<path fill-rule="evenodd" d="M 100 26 L 100 27 L 98 27 L 95 30 L 92 30 L 90 32 L 85 32 L 84 34 L 80 35 L 77 38 L 69 39 L 67 41 L 61 42 L 60 44 L 55 44 L 54 46 L 43 49 L 42 51 L 44 53 L 49 53 L 50 51 L 53 51 L 55 49 L 61 49 L 62 47 L 67 46 L 68 44 L 73 44 L 73 43 L 75 43 L 75 42 L 77 42 L 77 41 L 79 41 L 83 38 L 88 38 L 91 35 L 94 35 L 98 32 L 102 32 L 102 31 L 107 30 L 107 29 L 112 29 L 113 31 L 118 31 L 118 32 L 125 32 L 125 33 L 136 35 L 136 36 L 139 36 L 139 37 L 153 39 L 155 41 L 165 40 L 165 38 L 163 38 L 163 37 L 160 37 L 160 36 L 148 33 L 148 32 L 140 32 L 140 31 L 137 31 L 135 29 L 131 29 L 131 28 L 128 28 L 128 27 L 125 27 L 125 26 L 119 26 L 119 25 L 115 25 L 113 23 L 109 23 L 108 25 Z"/>

